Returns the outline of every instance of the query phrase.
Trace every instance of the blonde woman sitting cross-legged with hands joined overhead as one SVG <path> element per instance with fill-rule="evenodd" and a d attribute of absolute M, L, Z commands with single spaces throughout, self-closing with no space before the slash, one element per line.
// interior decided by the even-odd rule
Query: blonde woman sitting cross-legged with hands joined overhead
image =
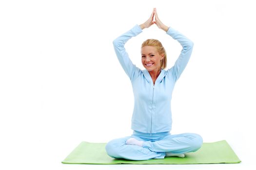
<path fill-rule="evenodd" d="M 155 21 L 153 17 L 155 16 Z M 164 70 L 167 65 L 165 49 L 156 39 L 147 39 L 141 45 L 141 70 L 130 60 L 125 51 L 125 43 L 156 24 L 166 34 L 176 39 L 182 51 L 174 66 Z M 193 42 L 186 36 L 164 25 L 154 8 L 150 18 L 141 25 L 113 41 L 118 60 L 131 80 L 134 92 L 134 111 L 131 136 L 109 141 L 106 152 L 113 158 L 130 160 L 163 159 L 167 156 L 184 157 L 184 153 L 195 152 L 202 145 L 202 137 L 194 133 L 171 135 L 171 99 L 174 85 L 186 67 L 193 49 Z"/>

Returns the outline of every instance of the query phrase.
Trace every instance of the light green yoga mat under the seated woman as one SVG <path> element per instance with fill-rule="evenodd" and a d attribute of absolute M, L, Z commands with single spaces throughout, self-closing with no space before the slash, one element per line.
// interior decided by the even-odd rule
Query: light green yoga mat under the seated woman
<path fill-rule="evenodd" d="M 105 151 L 106 143 L 81 142 L 63 161 L 64 164 L 218 164 L 239 163 L 240 159 L 226 140 L 213 143 L 203 143 L 194 153 L 186 153 L 184 158 L 166 157 L 134 161 L 114 159 Z"/>

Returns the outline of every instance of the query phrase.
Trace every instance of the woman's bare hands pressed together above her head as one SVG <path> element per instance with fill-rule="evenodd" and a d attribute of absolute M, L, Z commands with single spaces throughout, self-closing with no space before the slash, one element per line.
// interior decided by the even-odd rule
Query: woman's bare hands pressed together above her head
<path fill-rule="evenodd" d="M 155 19 L 156 19 L 155 21 L 153 21 L 154 15 L 155 15 Z M 149 27 L 150 27 L 151 25 L 153 25 L 153 24 L 156 24 L 156 25 L 158 26 L 158 28 L 164 30 L 165 32 L 168 31 L 168 28 L 169 28 L 169 27 L 167 27 L 166 25 L 164 25 L 164 24 L 160 21 L 160 19 L 158 18 L 158 13 L 157 13 L 157 9 L 156 9 L 156 8 L 153 9 L 153 12 L 152 12 L 150 18 L 149 18 L 146 22 L 144 22 L 143 24 L 140 24 L 139 26 L 140 26 L 140 28 L 143 30 L 144 28 L 149 28 Z"/>

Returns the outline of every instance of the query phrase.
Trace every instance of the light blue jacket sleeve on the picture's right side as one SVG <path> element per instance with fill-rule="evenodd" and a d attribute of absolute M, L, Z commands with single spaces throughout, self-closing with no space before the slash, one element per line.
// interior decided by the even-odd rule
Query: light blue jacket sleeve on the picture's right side
<path fill-rule="evenodd" d="M 182 50 L 174 66 L 167 70 L 169 76 L 173 77 L 174 81 L 176 82 L 180 77 L 181 73 L 183 72 L 183 70 L 185 69 L 185 67 L 187 66 L 187 63 L 193 50 L 194 43 L 191 40 L 189 40 L 186 36 L 184 36 L 183 34 L 179 33 L 177 30 L 171 27 L 169 27 L 166 34 L 171 35 L 182 46 Z"/>

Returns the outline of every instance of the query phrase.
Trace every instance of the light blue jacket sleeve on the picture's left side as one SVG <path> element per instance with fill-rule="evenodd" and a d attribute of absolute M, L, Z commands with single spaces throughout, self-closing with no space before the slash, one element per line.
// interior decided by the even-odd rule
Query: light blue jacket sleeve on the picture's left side
<path fill-rule="evenodd" d="M 131 30 L 118 36 L 118 38 L 113 41 L 114 49 L 117 54 L 119 63 L 121 64 L 125 73 L 129 76 L 131 81 L 133 81 L 134 78 L 138 77 L 140 69 L 132 63 L 128 56 L 128 53 L 125 51 L 124 45 L 130 38 L 140 34 L 141 32 L 142 30 L 140 26 L 136 24 Z"/>

